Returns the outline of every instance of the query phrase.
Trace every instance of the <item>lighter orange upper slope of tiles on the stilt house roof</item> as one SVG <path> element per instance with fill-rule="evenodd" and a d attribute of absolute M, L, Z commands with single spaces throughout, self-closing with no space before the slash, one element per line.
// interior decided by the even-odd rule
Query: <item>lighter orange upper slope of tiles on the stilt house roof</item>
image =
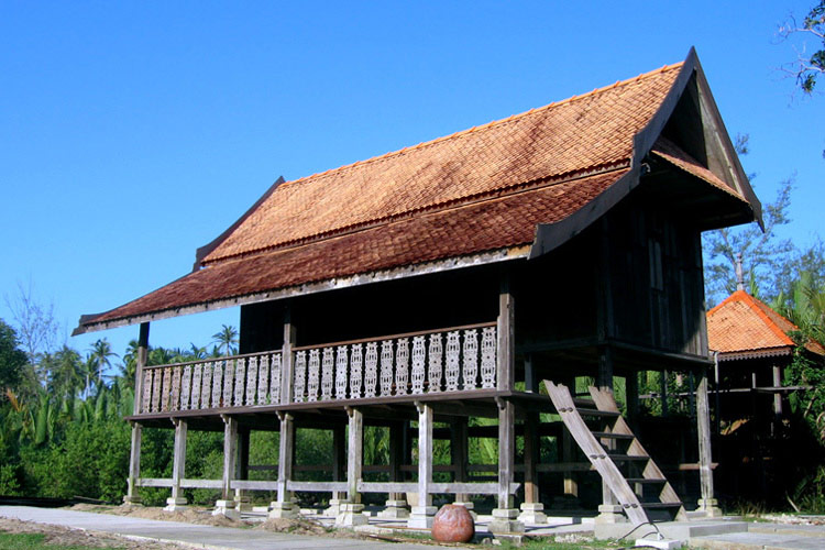
<path fill-rule="evenodd" d="M 681 67 L 282 184 L 202 263 L 626 164 Z"/>

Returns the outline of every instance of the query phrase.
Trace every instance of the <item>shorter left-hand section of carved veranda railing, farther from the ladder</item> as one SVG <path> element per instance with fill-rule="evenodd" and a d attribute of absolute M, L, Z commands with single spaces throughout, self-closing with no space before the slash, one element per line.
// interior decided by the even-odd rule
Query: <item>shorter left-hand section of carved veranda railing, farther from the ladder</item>
<path fill-rule="evenodd" d="M 141 413 L 276 405 L 280 352 L 267 351 L 143 369 Z"/>

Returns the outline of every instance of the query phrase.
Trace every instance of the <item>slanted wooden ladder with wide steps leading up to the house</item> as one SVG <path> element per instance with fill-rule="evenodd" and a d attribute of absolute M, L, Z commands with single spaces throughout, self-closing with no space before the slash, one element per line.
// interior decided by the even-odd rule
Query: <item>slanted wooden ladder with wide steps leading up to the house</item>
<path fill-rule="evenodd" d="M 622 417 L 612 393 L 591 386 L 593 400 L 575 399 L 562 384 L 544 381 L 544 386 L 570 435 L 634 525 L 651 521 L 651 513 L 667 513 L 656 519 L 688 519 L 682 502 Z M 585 417 L 598 428 L 592 429 Z"/>

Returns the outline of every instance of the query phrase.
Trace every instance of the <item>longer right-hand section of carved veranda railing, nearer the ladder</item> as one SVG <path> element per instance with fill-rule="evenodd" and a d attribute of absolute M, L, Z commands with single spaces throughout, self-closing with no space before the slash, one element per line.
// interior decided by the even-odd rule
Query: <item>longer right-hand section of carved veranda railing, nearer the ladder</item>
<path fill-rule="evenodd" d="M 294 349 L 293 400 L 496 387 L 496 323 Z"/>

